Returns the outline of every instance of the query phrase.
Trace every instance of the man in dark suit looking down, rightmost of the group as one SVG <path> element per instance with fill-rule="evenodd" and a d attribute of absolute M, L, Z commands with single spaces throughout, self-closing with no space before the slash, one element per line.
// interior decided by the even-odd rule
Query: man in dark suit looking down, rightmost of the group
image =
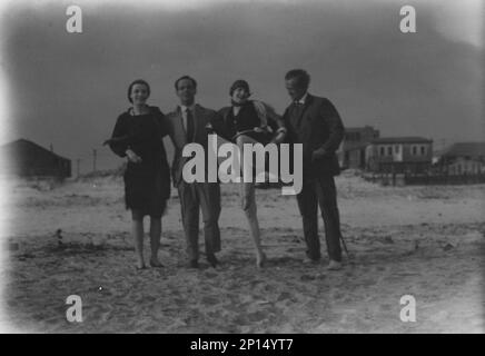
<path fill-rule="evenodd" d="M 345 130 L 331 102 L 308 93 L 309 81 L 310 77 L 305 70 L 295 69 L 286 73 L 286 89 L 293 103 L 286 109 L 284 120 L 289 142 L 303 145 L 303 188 L 297 195 L 297 201 L 303 218 L 307 260 L 317 263 L 321 257 L 318 238 L 319 205 L 330 259 L 328 268 L 339 269 L 340 221 L 334 176 L 340 171 L 335 151 Z"/>

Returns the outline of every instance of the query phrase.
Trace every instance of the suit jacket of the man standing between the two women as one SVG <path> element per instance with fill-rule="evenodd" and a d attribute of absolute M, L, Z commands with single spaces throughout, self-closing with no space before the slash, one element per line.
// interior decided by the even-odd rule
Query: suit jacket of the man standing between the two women
<path fill-rule="evenodd" d="M 196 105 L 194 109 L 194 138 L 192 142 L 199 144 L 206 151 L 206 181 L 207 181 L 207 129 L 206 126 L 214 119 L 216 111 Z M 175 147 L 174 162 L 171 165 L 171 174 L 174 186 L 177 187 L 182 179 L 184 165 L 190 160 L 190 157 L 182 157 L 184 147 L 189 144 L 187 141 L 187 134 L 182 123 L 182 116 L 180 107 L 168 113 L 165 119 L 166 131 L 171 138 Z"/>

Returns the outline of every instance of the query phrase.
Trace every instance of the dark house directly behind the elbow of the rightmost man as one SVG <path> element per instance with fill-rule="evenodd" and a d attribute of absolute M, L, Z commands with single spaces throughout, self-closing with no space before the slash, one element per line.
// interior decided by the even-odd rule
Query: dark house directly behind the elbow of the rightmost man
<path fill-rule="evenodd" d="M 337 151 L 340 167 L 364 169 L 366 147 L 378 137 L 379 130 L 372 126 L 346 128 Z"/>

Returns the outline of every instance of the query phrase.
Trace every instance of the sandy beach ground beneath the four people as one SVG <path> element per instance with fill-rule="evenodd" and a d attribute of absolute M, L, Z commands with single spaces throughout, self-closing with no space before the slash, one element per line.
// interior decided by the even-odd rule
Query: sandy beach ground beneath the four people
<path fill-rule="evenodd" d="M 336 182 L 350 250 L 339 271 L 327 258 L 301 263 L 296 199 L 279 189 L 257 190 L 269 257 L 257 269 L 232 185 L 222 186 L 219 268 L 204 256 L 199 270 L 185 266 L 174 189 L 166 267 L 138 271 L 121 178 L 9 181 L 1 323 L 34 333 L 484 333 L 485 186 L 380 187 L 353 172 Z M 66 319 L 69 295 L 82 299 L 82 323 Z M 399 318 L 404 295 L 416 299 L 415 323 Z"/>

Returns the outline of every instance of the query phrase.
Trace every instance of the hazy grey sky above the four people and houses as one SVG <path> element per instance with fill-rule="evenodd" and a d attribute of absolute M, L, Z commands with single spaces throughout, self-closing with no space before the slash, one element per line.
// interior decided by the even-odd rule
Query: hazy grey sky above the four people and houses
<path fill-rule="evenodd" d="M 101 142 L 129 105 L 131 80 L 148 80 L 149 102 L 167 112 L 186 73 L 206 107 L 226 106 L 230 83 L 244 78 L 254 98 L 283 112 L 285 72 L 305 68 L 310 92 L 329 98 L 347 127 L 436 146 L 485 138 L 479 0 L 77 1 L 81 34 L 66 31 L 71 3 L 3 6 L 1 141 L 52 144 L 81 158 L 85 172 L 95 148 L 101 168 L 120 164 Z M 404 4 L 416 9 L 417 33 L 399 31 Z"/>

